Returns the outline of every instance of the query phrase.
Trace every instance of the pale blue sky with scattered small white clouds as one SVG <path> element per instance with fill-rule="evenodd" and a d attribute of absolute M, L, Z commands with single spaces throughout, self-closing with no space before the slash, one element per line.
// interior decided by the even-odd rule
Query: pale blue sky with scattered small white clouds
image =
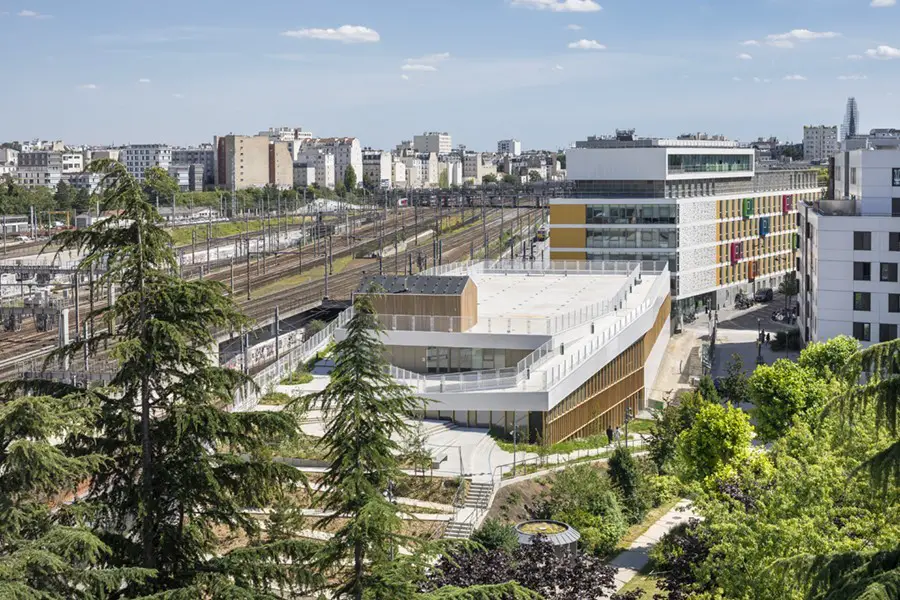
<path fill-rule="evenodd" d="M 900 127 L 897 0 L 0 0 L 0 141 Z"/>

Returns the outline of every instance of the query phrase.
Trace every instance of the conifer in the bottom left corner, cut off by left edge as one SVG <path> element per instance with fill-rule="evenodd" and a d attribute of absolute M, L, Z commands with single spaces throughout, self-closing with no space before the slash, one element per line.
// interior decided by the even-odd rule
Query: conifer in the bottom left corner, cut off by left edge
<path fill-rule="evenodd" d="M 0 597 L 111 598 L 151 571 L 104 566 L 112 549 L 66 508 L 51 511 L 104 462 L 54 442 L 83 433 L 93 408 L 81 398 L 9 395 L 0 404 Z"/>

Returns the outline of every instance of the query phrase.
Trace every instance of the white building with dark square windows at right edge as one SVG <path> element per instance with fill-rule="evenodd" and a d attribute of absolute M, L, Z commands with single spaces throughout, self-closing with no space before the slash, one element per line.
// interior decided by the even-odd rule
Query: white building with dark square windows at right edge
<path fill-rule="evenodd" d="M 900 149 L 835 157 L 833 197 L 800 208 L 800 331 L 863 345 L 900 327 Z"/>

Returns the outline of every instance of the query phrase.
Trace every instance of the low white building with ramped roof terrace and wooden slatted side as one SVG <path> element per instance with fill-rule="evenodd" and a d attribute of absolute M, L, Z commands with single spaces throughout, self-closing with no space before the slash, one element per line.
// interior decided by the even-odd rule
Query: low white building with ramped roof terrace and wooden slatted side
<path fill-rule="evenodd" d="M 425 415 L 546 443 L 646 403 L 669 339 L 665 263 L 476 262 L 370 277 L 391 373 Z M 336 339 L 346 336 L 338 329 Z"/>

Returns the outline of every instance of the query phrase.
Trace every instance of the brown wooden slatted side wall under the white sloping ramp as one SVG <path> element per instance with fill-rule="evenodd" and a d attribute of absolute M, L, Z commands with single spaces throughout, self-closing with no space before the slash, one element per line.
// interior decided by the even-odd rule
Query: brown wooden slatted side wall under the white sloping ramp
<path fill-rule="evenodd" d="M 625 422 L 625 407 L 636 413 L 644 399 L 644 363 L 671 312 L 667 297 L 650 330 L 544 414 L 543 438 L 555 444 L 601 434 Z"/>

